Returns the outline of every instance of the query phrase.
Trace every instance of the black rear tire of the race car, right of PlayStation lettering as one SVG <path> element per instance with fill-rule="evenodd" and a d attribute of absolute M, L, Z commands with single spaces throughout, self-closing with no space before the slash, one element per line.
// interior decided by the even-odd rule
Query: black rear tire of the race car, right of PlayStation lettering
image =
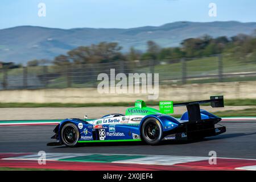
<path fill-rule="evenodd" d="M 141 126 L 141 137 L 147 144 L 159 144 L 163 138 L 163 129 L 158 119 L 147 118 Z"/>

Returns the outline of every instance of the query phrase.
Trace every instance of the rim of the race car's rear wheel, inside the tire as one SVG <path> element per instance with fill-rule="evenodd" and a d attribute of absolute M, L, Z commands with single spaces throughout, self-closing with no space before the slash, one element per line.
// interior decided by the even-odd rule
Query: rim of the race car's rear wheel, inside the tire
<path fill-rule="evenodd" d="M 160 134 L 160 128 L 158 124 L 154 121 L 150 121 L 144 127 L 144 135 L 149 141 L 154 141 L 158 139 Z"/>

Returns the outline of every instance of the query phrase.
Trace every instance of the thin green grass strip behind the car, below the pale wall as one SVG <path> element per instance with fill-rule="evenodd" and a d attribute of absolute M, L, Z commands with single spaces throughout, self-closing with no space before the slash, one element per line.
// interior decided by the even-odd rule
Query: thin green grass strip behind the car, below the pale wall
<path fill-rule="evenodd" d="M 182 101 L 174 101 L 174 103 Z M 146 101 L 148 106 L 157 106 L 159 101 Z M 209 105 L 209 104 L 204 104 Z M 0 103 L 0 107 L 100 107 L 100 106 L 134 106 L 134 102 L 114 102 L 114 103 L 86 103 L 86 104 L 62 104 L 62 103 Z M 256 99 L 225 100 L 225 106 L 256 106 Z"/>

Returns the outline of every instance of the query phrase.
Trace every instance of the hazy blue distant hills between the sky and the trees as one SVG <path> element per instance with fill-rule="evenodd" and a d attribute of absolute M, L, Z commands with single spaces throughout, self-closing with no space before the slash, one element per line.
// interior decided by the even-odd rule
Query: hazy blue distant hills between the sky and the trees
<path fill-rule="evenodd" d="M 154 40 L 162 47 L 179 46 L 187 38 L 208 34 L 234 36 L 251 34 L 256 23 L 175 22 L 163 26 L 138 28 L 59 28 L 20 26 L 0 30 L 0 61 L 26 63 L 32 59 L 53 59 L 72 48 L 99 42 L 118 42 L 123 51 L 131 46 L 144 51 L 146 42 Z"/>

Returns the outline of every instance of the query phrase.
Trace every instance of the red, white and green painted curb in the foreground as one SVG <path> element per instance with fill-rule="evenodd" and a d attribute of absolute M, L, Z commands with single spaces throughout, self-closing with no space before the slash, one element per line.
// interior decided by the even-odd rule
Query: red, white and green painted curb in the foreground
<path fill-rule="evenodd" d="M 109 160 L 111 159 L 111 160 Z M 46 165 L 39 165 L 38 154 L 2 153 L 0 167 L 51 168 L 67 170 L 256 170 L 256 159 L 131 154 L 47 153 Z"/>

